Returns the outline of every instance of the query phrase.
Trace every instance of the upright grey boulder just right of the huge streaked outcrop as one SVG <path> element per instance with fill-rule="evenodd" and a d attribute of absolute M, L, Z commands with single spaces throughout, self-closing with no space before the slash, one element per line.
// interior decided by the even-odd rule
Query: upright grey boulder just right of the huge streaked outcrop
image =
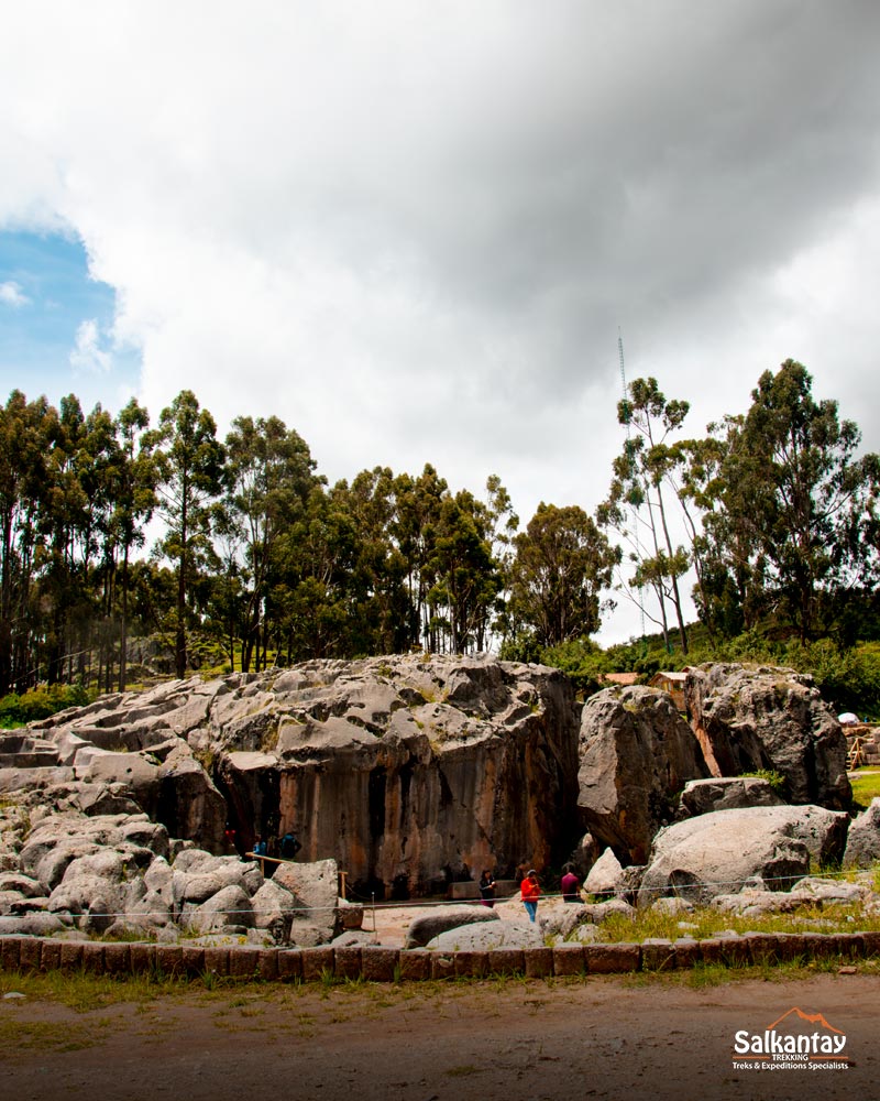
<path fill-rule="evenodd" d="M 581 716 L 578 807 L 583 825 L 628 863 L 644 863 L 674 796 L 708 775 L 672 698 L 632 685 L 591 696 Z"/>

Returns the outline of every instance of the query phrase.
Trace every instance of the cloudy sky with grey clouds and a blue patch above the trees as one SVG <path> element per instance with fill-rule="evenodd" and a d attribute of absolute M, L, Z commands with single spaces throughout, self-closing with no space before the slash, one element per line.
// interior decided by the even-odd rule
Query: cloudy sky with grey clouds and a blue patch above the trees
<path fill-rule="evenodd" d="M 628 379 L 792 357 L 880 449 L 873 0 L 7 6 L 0 396 L 592 511 Z M 603 641 L 625 639 L 619 611 Z"/>

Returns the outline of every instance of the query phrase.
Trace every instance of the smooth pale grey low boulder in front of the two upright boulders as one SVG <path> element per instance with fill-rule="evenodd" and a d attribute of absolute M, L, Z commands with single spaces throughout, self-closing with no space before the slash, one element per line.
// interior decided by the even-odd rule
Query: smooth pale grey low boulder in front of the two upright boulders
<path fill-rule="evenodd" d="M 676 822 L 654 838 L 639 905 L 667 894 L 707 903 L 756 877 L 788 891 L 811 860 L 839 860 L 846 827 L 845 814 L 814 806 L 717 810 Z"/>

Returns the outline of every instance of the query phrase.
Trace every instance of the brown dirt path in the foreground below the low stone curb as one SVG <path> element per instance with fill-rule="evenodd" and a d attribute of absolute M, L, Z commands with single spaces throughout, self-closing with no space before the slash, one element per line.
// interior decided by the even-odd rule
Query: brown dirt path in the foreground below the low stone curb
<path fill-rule="evenodd" d="M 850 1069 L 735 1069 L 735 1034 L 794 1006 L 846 1034 Z M 81 1013 L 4 1000 L 0 1081 L 10 1101 L 870 1101 L 878 1010 L 866 975 L 193 990 Z"/>

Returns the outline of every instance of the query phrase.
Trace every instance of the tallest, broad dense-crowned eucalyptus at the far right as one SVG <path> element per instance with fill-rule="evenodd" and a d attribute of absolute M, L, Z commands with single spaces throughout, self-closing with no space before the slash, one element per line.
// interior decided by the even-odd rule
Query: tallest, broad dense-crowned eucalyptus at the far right
<path fill-rule="evenodd" d="M 880 458 L 859 454 L 857 425 L 839 419 L 837 402 L 814 400 L 794 360 L 766 371 L 751 397 L 728 424 L 707 522 L 737 533 L 750 586 L 806 642 L 826 625 L 822 598 L 878 581 Z"/>

